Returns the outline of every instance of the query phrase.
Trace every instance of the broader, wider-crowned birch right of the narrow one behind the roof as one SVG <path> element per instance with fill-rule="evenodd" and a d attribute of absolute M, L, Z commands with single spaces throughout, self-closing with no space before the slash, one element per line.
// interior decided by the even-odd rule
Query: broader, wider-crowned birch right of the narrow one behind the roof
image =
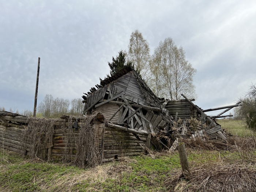
<path fill-rule="evenodd" d="M 157 59 L 163 78 L 163 96 L 172 100 L 181 99 L 181 94 L 196 97 L 193 84 L 196 69 L 186 60 L 182 47 L 178 48 L 172 38 L 166 38 L 155 49 L 153 58 Z"/>

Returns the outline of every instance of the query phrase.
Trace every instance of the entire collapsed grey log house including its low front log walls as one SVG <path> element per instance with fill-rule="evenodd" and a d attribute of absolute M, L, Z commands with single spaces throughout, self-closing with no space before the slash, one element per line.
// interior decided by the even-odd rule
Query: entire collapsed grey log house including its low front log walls
<path fill-rule="evenodd" d="M 131 66 L 96 88 L 82 96 L 81 117 L 47 120 L 0 112 L 1 146 L 31 158 L 94 166 L 148 148 L 175 149 L 179 137 L 227 139 L 217 117 L 207 116 L 194 99 L 160 101 Z"/>

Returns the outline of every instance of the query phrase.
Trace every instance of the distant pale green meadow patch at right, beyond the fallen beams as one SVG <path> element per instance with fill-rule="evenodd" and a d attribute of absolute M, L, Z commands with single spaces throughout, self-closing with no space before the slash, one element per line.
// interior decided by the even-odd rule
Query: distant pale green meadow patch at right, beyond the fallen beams
<path fill-rule="evenodd" d="M 242 120 L 219 119 L 217 123 L 219 123 L 227 133 L 231 133 L 232 135 L 240 137 L 256 136 L 254 131 L 246 128 L 247 125 Z"/>

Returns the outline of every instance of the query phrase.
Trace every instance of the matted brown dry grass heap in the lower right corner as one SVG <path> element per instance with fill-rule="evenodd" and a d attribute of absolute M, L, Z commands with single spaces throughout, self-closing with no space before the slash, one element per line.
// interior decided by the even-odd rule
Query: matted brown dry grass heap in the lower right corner
<path fill-rule="evenodd" d="M 170 180 L 170 191 L 253 192 L 256 191 L 256 165 L 207 163 L 191 169 L 189 178 L 177 172 Z"/>

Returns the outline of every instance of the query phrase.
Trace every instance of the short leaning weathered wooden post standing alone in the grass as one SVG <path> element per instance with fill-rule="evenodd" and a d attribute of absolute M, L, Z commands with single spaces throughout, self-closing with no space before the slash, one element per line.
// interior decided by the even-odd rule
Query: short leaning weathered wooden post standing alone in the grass
<path fill-rule="evenodd" d="M 182 172 L 184 176 L 190 175 L 189 165 L 188 165 L 188 157 L 185 148 L 185 144 L 183 142 L 178 143 L 178 151 L 180 155 L 180 163 L 182 167 Z"/>

